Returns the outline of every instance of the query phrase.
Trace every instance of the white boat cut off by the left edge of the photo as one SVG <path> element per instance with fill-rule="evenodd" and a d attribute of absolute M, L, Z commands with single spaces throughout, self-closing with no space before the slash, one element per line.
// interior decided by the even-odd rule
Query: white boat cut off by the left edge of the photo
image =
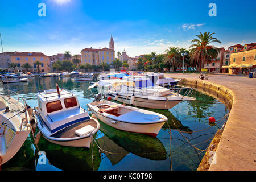
<path fill-rule="evenodd" d="M 0 94 L 0 166 L 13 158 L 30 133 L 26 102 L 18 98 Z"/>

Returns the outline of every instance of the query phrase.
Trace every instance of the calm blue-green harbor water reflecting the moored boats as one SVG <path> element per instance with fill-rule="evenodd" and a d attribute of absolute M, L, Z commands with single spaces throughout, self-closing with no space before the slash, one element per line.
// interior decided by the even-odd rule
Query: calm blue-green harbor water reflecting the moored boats
<path fill-rule="evenodd" d="M 75 82 L 69 77 L 28 79 L 27 83 L 1 84 L 0 92 L 6 93 L 4 89 L 17 92 L 28 105 L 34 107 L 37 105 L 36 92 L 55 88 L 55 83 L 58 83 L 60 88 L 75 93 L 84 109 L 87 110 L 86 104 L 93 101 L 88 90 L 89 82 Z M 205 152 L 196 150 L 191 144 L 201 150 L 207 148 L 218 128 L 226 121 L 224 119 L 216 126 L 210 127 L 208 118 L 214 117 L 217 121 L 224 117 L 228 110 L 224 104 L 207 94 L 196 92 L 192 97 L 196 100 L 180 102 L 170 110 L 150 109 L 168 117 L 168 123 L 164 124 L 156 138 L 117 130 L 100 122 L 100 130 L 94 135 L 97 144 L 94 143 L 89 150 L 58 146 L 41 137 L 38 152 L 30 135 L 18 153 L 1 168 L 38 171 L 196 170 Z M 102 150 L 99 150 L 97 145 Z"/>

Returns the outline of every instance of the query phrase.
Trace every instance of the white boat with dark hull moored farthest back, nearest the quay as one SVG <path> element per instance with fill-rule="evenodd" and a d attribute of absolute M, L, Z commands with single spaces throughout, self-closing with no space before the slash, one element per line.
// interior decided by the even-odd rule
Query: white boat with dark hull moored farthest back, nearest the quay
<path fill-rule="evenodd" d="M 147 78 L 150 78 L 150 80 L 155 85 L 159 85 L 159 86 L 177 85 L 177 83 L 181 80 L 181 79 L 173 79 L 170 77 L 164 77 L 163 73 L 145 73 L 145 76 Z"/>

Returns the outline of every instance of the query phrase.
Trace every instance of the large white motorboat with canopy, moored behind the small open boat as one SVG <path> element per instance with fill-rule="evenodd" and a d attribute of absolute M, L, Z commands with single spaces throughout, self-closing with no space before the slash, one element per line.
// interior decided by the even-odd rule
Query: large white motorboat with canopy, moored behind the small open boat
<path fill-rule="evenodd" d="M 135 86 L 127 86 L 119 84 L 118 87 L 105 90 L 106 96 L 113 100 L 123 102 L 125 104 L 145 107 L 150 109 L 171 109 L 183 100 L 195 100 L 188 95 L 195 93 L 193 88 L 173 88 L 172 90 L 154 85 L 149 78 L 146 77 L 124 77 L 123 80 L 101 80 L 101 85 L 107 85 L 109 82 L 127 82 L 133 81 Z M 92 85 L 95 86 L 96 84 Z M 175 92 L 181 89 L 187 89 L 184 95 Z"/>

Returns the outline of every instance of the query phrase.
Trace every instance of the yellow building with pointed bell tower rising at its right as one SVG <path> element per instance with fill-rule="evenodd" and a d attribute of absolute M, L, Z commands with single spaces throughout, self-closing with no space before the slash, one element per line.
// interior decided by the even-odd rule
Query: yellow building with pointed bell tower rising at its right
<path fill-rule="evenodd" d="M 85 48 L 81 51 L 81 64 L 100 65 L 101 63 L 111 64 L 115 59 L 114 40 L 111 36 L 109 48 Z"/>

